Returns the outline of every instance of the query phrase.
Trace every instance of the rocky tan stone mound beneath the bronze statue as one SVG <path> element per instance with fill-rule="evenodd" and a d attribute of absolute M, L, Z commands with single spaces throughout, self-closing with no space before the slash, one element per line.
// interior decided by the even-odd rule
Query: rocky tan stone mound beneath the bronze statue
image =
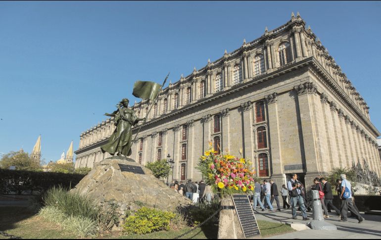
<path fill-rule="evenodd" d="M 174 211 L 178 206 L 191 204 L 188 198 L 155 178 L 149 169 L 125 156 L 96 163 L 72 191 L 79 191 L 102 206 L 115 200 L 121 220 L 126 210 L 142 206 Z"/>

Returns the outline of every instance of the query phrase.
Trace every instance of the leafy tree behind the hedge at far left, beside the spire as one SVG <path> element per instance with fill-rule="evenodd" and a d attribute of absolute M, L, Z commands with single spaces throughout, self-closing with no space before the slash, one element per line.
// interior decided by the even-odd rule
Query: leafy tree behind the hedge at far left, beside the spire
<path fill-rule="evenodd" d="M 0 166 L 3 169 L 9 169 L 15 166 L 16 170 L 42 171 L 40 162 L 30 158 L 27 152 L 10 151 L 1 158 Z"/>

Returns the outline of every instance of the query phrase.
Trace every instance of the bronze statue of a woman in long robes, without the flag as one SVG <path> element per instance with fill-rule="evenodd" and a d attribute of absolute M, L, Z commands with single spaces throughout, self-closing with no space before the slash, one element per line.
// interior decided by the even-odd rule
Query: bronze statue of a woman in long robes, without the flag
<path fill-rule="evenodd" d="M 138 118 L 134 110 L 128 107 L 129 100 L 123 98 L 117 105 L 118 110 L 104 115 L 115 117 L 114 124 L 116 129 L 108 139 L 108 143 L 100 147 L 102 152 L 108 152 L 111 155 L 131 155 L 132 146 L 132 127 L 139 121 L 145 121 L 145 118 Z"/>

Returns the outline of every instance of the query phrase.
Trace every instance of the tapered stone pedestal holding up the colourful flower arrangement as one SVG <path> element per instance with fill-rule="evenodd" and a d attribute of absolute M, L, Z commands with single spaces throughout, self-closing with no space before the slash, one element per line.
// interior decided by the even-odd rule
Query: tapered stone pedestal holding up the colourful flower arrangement
<path fill-rule="evenodd" d="M 218 239 L 244 239 L 236 209 L 231 196 L 222 197 Z"/>

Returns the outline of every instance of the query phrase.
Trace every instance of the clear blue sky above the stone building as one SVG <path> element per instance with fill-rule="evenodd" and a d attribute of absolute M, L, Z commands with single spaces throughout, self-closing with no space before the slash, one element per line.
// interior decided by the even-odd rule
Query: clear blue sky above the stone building
<path fill-rule="evenodd" d="M 380 1 L 0 1 L 0 152 L 59 159 L 136 80 L 190 74 L 299 11 L 381 130 Z"/>

